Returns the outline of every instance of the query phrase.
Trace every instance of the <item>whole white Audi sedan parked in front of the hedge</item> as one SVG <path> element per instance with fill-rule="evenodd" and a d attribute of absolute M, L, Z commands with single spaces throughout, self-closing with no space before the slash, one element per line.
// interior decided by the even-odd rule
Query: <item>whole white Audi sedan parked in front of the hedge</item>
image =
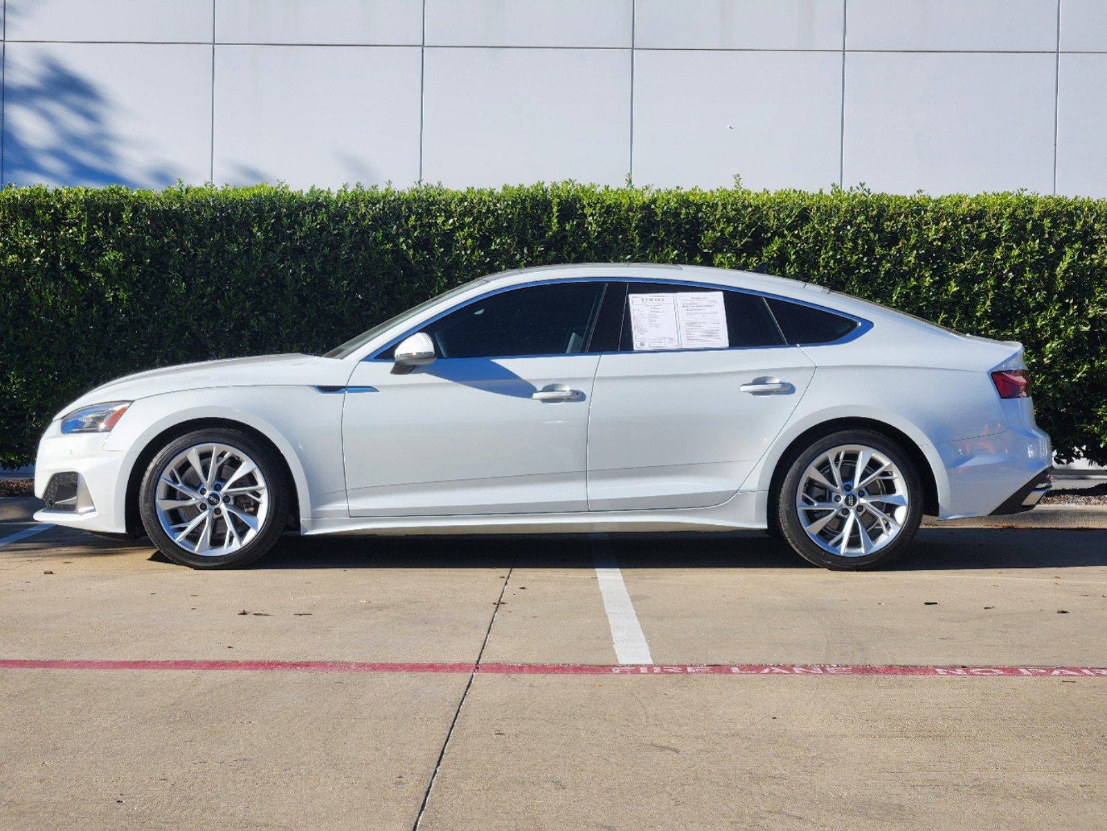
<path fill-rule="evenodd" d="M 283 533 L 734 529 L 867 568 L 923 514 L 1033 506 L 1051 459 L 1018 343 L 758 274 L 560 266 L 322 356 L 97 387 L 42 438 L 35 519 L 197 568 Z"/>

